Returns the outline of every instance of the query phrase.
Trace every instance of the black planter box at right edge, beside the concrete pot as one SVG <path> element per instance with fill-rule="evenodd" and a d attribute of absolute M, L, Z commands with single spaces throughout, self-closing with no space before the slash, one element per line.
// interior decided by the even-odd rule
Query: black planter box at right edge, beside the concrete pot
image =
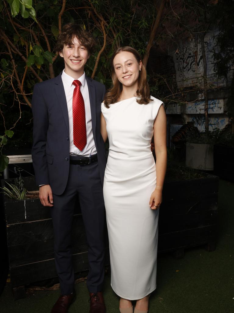
<path fill-rule="evenodd" d="M 234 148 L 214 145 L 214 173 L 234 182 Z"/>

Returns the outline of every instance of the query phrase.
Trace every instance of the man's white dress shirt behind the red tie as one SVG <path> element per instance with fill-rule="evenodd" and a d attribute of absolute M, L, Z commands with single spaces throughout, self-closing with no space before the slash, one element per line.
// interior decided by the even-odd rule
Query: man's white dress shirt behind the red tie
<path fill-rule="evenodd" d="M 67 100 L 67 110 L 69 118 L 69 137 L 70 137 L 70 155 L 81 155 L 90 156 L 97 153 L 91 122 L 91 109 L 89 100 L 89 90 L 85 78 L 85 73 L 80 76 L 79 81 L 81 82 L 80 91 L 85 102 L 85 121 L 86 121 L 86 136 L 87 143 L 82 151 L 80 151 L 73 143 L 73 117 L 72 117 L 72 97 L 75 85 L 72 84 L 74 78 L 67 75 L 64 70 L 62 72 L 62 83 L 65 90 L 66 100 Z"/>

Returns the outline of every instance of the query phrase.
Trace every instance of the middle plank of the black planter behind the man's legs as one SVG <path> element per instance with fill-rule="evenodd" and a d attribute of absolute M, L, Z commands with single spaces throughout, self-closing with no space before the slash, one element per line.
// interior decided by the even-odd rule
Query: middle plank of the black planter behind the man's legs
<path fill-rule="evenodd" d="M 27 223 L 27 229 L 25 224 L 15 224 L 8 227 L 8 229 L 13 228 L 8 232 L 10 267 L 54 258 L 52 221 L 30 222 Z M 14 236 L 15 233 L 17 233 L 17 236 Z M 74 217 L 71 233 L 73 253 L 87 251 L 82 216 L 77 215 Z M 107 229 L 105 229 L 105 246 L 109 246 Z"/>

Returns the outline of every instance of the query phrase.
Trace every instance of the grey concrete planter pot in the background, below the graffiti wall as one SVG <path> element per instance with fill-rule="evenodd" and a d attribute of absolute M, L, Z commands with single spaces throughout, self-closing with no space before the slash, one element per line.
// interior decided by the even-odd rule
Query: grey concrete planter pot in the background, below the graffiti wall
<path fill-rule="evenodd" d="M 186 167 L 213 171 L 213 145 L 205 143 L 186 143 Z"/>

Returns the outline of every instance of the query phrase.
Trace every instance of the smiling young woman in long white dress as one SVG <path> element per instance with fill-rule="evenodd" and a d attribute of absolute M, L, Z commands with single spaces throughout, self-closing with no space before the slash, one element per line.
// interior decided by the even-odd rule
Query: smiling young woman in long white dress
<path fill-rule="evenodd" d="M 120 296 L 121 313 L 133 312 L 132 300 L 136 300 L 134 313 L 146 313 L 149 295 L 156 288 L 166 115 L 162 101 L 149 94 L 146 71 L 135 49 L 115 51 L 112 80 L 101 105 L 101 133 L 110 144 L 103 193 L 111 286 Z M 153 135 L 156 165 L 150 149 Z"/>

